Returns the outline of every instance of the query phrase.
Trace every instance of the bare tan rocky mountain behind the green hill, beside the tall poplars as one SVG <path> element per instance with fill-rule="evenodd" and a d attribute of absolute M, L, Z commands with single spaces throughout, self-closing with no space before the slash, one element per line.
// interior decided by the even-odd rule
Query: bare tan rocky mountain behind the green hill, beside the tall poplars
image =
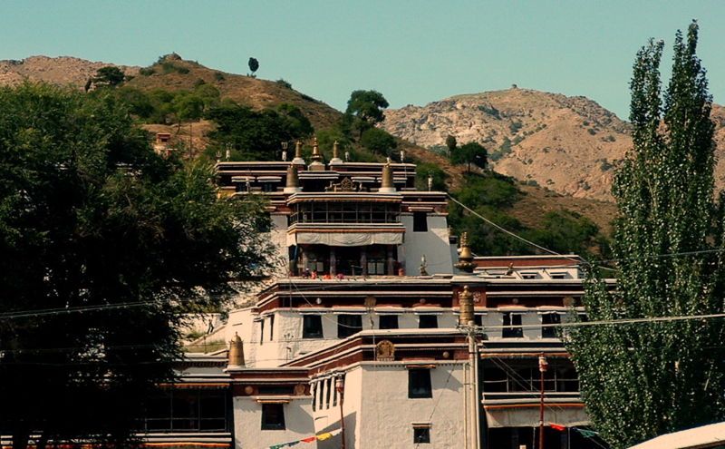
<path fill-rule="evenodd" d="M 718 152 L 725 151 L 725 109 L 713 105 L 712 118 Z M 449 135 L 480 142 L 496 171 L 594 200 L 613 200 L 613 169 L 632 147 L 629 124 L 596 102 L 516 87 L 389 110 L 382 128 L 434 150 Z M 715 175 L 722 189 L 725 161 Z"/>

